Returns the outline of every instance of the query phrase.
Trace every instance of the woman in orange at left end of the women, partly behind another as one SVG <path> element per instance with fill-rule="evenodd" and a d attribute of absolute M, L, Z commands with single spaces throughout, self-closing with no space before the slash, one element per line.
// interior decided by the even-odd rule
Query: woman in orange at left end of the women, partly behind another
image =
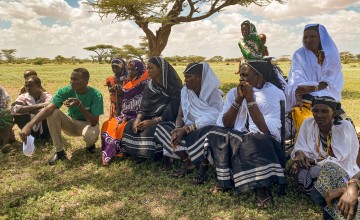
<path fill-rule="evenodd" d="M 121 87 L 128 81 L 128 74 L 125 67 L 126 63 L 121 58 L 114 58 L 111 61 L 111 69 L 115 75 L 109 76 L 105 83 L 110 93 L 109 119 L 121 114 Z"/>

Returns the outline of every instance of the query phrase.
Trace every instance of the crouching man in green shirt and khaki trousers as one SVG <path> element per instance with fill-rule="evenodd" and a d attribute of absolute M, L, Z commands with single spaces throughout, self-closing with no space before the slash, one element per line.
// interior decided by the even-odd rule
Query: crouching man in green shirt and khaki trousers
<path fill-rule="evenodd" d="M 82 136 L 89 153 L 95 152 L 95 142 L 100 133 L 99 116 L 104 113 L 101 93 L 88 86 L 90 74 L 84 68 L 77 68 L 71 74 L 70 86 L 59 89 L 52 102 L 43 108 L 20 132 L 20 137 L 26 141 L 31 128 L 44 119 L 48 119 L 48 126 L 56 153 L 49 160 L 54 165 L 57 160 L 65 159 L 64 141 L 61 131 L 71 136 Z M 65 105 L 67 115 L 59 108 Z"/>

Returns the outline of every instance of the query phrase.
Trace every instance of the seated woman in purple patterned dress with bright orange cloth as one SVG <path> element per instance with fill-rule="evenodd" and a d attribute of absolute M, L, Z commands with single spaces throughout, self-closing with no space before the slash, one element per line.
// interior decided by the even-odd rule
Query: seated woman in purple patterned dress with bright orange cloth
<path fill-rule="evenodd" d="M 127 65 L 130 81 L 122 87 L 122 111 L 118 117 L 104 122 L 101 128 L 102 164 L 109 165 L 112 157 L 124 155 L 121 144 L 124 128 L 127 122 L 136 117 L 143 96 L 145 85 L 148 82 L 148 72 L 145 65 L 132 60 Z"/>

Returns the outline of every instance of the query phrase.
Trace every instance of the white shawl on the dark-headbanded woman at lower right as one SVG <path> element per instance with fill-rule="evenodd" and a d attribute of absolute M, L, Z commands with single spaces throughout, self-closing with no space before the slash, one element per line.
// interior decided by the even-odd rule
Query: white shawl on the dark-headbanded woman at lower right
<path fill-rule="evenodd" d="M 360 171 L 356 164 L 356 158 L 359 152 L 359 141 L 355 129 L 349 121 L 342 120 L 340 125 L 332 126 L 331 132 L 331 147 L 335 157 L 328 156 L 318 163 L 318 165 L 321 166 L 325 162 L 336 163 L 352 177 Z M 319 127 L 314 118 L 308 118 L 301 125 L 294 150 L 291 152 L 291 158 L 295 158 L 297 151 L 302 151 L 311 159 L 320 159 L 319 153 L 317 152 L 318 141 Z M 322 156 L 326 155 L 321 146 L 320 153 Z"/>

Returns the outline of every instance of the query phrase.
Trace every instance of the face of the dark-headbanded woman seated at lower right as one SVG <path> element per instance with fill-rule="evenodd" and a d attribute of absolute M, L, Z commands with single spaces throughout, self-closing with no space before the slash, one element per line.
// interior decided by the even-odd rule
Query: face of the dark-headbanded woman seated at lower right
<path fill-rule="evenodd" d="M 312 107 L 315 122 L 319 127 L 330 126 L 335 116 L 335 111 L 325 104 L 316 104 Z"/>

